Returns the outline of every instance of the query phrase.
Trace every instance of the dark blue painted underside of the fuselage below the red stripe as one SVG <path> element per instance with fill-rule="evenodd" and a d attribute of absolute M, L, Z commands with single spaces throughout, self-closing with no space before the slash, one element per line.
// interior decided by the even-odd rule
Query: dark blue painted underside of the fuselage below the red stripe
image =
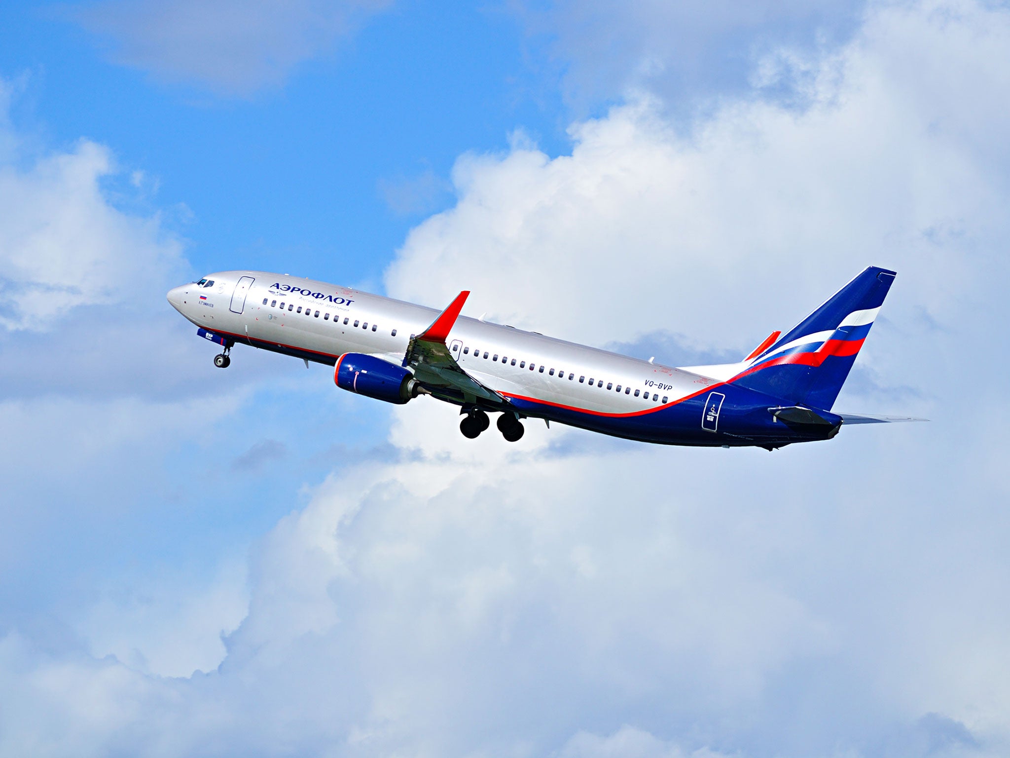
<path fill-rule="evenodd" d="M 273 353 L 328 366 L 336 364 L 336 356 L 268 343 L 244 336 L 227 334 L 227 337 L 236 345 L 246 344 Z M 706 430 L 702 425 L 710 391 L 718 392 L 725 397 L 719 409 L 717 423 L 711 424 L 715 427 L 715 431 Z M 458 405 L 466 404 L 462 396 L 457 396 L 451 391 L 436 392 L 435 394 L 446 402 Z M 546 418 L 558 423 L 598 432 L 611 437 L 660 445 L 777 448 L 793 443 L 830 439 L 835 432 L 832 428 L 811 428 L 779 421 L 769 412 L 769 408 L 790 403 L 784 403 L 755 390 L 732 384 L 716 385 L 695 397 L 662 405 L 654 410 L 637 414 L 599 414 L 530 398 L 513 397 L 510 398 L 510 402 L 520 416 Z M 487 409 L 500 410 L 501 408 L 488 405 Z"/>

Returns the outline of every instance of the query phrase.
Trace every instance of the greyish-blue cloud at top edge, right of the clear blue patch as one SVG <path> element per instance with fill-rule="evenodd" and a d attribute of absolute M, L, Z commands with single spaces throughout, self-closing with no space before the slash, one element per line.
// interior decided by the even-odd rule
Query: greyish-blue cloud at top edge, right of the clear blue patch
<path fill-rule="evenodd" d="M 559 72 L 570 103 L 582 109 L 628 87 L 647 87 L 672 110 L 691 112 L 699 100 L 744 92 L 754 62 L 771 50 L 787 44 L 812 51 L 844 39 L 857 28 L 866 5 L 865 0 L 559 0 L 512 7 L 533 51 Z"/>

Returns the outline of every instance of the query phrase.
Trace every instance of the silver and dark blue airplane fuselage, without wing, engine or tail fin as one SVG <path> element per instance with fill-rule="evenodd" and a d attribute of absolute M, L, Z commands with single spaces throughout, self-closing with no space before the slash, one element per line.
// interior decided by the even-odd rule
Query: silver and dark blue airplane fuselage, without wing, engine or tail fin
<path fill-rule="evenodd" d="M 218 356 L 223 361 L 217 361 L 224 366 L 230 348 L 245 344 L 336 365 L 337 374 L 341 356 L 348 354 L 380 359 L 391 370 L 415 371 L 406 358 L 412 338 L 439 317 L 438 310 L 423 305 L 261 271 L 210 274 L 176 287 L 168 297 L 202 337 L 225 347 Z M 458 369 L 487 393 L 437 382 L 425 383 L 421 391 L 467 412 L 485 413 L 484 428 L 486 411 L 502 411 L 509 422 L 539 417 L 644 442 L 772 448 L 826 439 L 841 421 L 828 419 L 830 434 L 779 422 L 769 411 L 782 407 L 781 398 L 724 379 L 466 316 L 451 321 L 443 342 Z"/>

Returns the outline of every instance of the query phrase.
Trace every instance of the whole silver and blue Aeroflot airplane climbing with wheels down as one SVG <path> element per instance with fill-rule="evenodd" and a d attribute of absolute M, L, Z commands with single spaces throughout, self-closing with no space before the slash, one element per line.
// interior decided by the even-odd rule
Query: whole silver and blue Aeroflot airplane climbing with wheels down
<path fill-rule="evenodd" d="M 539 418 L 664 445 L 776 450 L 830 440 L 842 425 L 924 420 L 831 408 L 896 272 L 868 267 L 742 361 L 662 366 L 483 318 L 462 316 L 469 291 L 442 311 L 287 274 L 224 271 L 168 293 L 223 350 L 249 345 L 333 367 L 340 389 L 403 404 L 419 395 L 460 406 L 479 437 L 497 413 L 505 440 Z"/>

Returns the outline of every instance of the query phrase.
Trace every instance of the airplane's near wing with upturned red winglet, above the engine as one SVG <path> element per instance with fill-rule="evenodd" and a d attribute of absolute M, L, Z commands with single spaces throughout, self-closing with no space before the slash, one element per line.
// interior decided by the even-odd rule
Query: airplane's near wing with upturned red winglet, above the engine
<path fill-rule="evenodd" d="M 445 344 L 469 295 L 467 290 L 461 292 L 430 326 L 411 338 L 403 357 L 403 365 L 412 368 L 414 378 L 435 393 L 439 389 L 448 390 L 450 394 L 463 395 L 464 402 L 482 399 L 495 405 L 508 405 L 504 396 L 464 371 Z"/>

